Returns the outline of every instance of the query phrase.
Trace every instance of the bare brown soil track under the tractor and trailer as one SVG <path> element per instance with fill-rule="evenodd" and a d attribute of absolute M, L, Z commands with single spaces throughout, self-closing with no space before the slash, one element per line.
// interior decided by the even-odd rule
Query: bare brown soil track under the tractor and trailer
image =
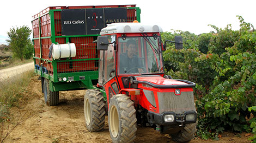
<path fill-rule="evenodd" d="M 109 137 L 107 116 L 101 132 L 89 132 L 84 122 L 83 98 L 85 90 L 60 92 L 58 106 L 47 106 L 41 93 L 38 76 L 31 79 L 19 106 L 13 107 L 11 120 L 19 125 L 5 142 L 112 142 Z M 137 126 L 135 142 L 173 142 L 153 128 Z M 248 135 L 248 134 L 247 134 Z M 249 142 L 246 133 L 224 133 L 218 141 L 193 139 L 191 142 Z"/>

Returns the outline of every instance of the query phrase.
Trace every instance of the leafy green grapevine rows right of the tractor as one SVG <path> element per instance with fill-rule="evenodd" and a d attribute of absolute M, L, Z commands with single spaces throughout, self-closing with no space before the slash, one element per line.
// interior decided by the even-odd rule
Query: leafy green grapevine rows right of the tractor
<path fill-rule="evenodd" d="M 237 17 L 240 30 L 229 24 L 224 29 L 209 25 L 215 31 L 200 35 L 162 33 L 162 41 L 183 37 L 184 49 L 169 45 L 164 51 L 164 66 L 173 79 L 197 83 L 197 136 L 202 139 L 218 139 L 223 131 L 256 133 L 256 30 Z"/>

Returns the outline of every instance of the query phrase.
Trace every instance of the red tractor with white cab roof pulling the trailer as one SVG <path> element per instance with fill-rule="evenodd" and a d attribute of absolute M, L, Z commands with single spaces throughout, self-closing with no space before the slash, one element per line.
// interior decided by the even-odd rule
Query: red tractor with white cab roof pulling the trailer
<path fill-rule="evenodd" d="M 164 75 L 158 25 L 113 23 L 97 38 L 99 83 L 84 96 L 84 116 L 90 132 L 101 131 L 108 113 L 113 142 L 132 142 L 137 125 L 151 126 L 174 141 L 187 142 L 196 132 L 193 87 L 187 80 Z M 176 49 L 182 38 L 175 37 Z"/>

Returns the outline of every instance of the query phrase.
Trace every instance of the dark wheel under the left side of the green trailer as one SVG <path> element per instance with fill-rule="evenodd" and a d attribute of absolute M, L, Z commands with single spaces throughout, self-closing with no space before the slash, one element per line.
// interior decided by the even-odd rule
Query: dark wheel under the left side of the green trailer
<path fill-rule="evenodd" d="M 58 105 L 59 103 L 59 92 L 52 92 L 50 90 L 48 79 L 44 79 L 44 98 L 48 106 Z"/>

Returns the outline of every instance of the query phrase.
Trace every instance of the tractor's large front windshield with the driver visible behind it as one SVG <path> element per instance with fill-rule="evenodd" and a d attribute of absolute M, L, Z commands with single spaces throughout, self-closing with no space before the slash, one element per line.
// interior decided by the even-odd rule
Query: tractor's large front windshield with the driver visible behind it
<path fill-rule="evenodd" d="M 163 73 L 159 36 L 119 37 L 119 74 Z"/>

